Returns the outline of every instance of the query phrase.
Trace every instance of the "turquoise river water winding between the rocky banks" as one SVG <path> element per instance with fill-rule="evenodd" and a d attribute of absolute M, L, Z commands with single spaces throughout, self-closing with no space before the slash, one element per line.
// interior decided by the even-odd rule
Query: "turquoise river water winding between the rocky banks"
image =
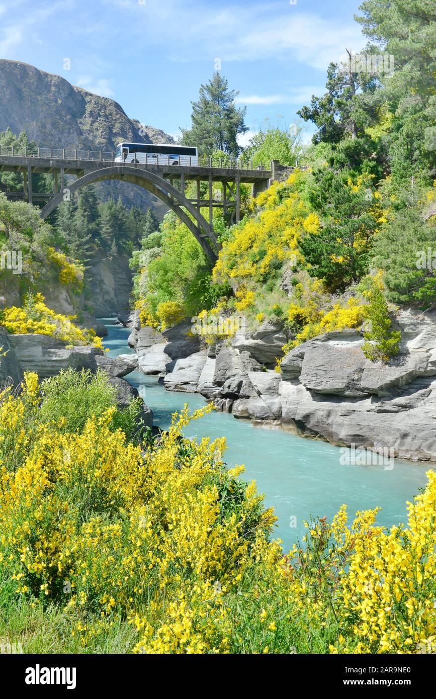
<path fill-rule="evenodd" d="M 103 345 L 109 356 L 134 353 L 127 345 L 130 330 L 114 325 L 116 319 L 101 321 L 108 329 Z M 184 403 L 200 408 L 205 399 L 199 394 L 166 391 L 157 377 L 133 371 L 126 380 L 136 387 L 154 414 L 154 424 L 167 428 L 171 415 Z M 184 431 L 188 437 L 226 437 L 224 461 L 231 468 L 245 465 L 246 480 L 256 480 L 265 493 L 265 505 L 273 505 L 277 517 L 274 536 L 289 550 L 305 533 L 304 521 L 326 515 L 331 519 L 342 503 L 349 516 L 357 510 L 379 505 L 378 524 L 391 526 L 407 521 L 407 500 L 412 500 L 426 484 L 428 466 L 395 459 L 393 468 L 383 465 L 342 466 L 339 447 L 327 442 L 296 437 L 280 429 L 254 427 L 249 421 L 212 411 L 194 420 Z"/>

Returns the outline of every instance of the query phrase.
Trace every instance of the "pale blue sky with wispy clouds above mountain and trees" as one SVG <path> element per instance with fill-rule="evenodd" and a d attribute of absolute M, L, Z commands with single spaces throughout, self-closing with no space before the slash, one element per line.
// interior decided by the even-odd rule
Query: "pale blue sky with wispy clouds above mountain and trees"
<path fill-rule="evenodd" d="M 366 43 L 359 1 L 293 1 L 0 0 L 0 57 L 112 97 L 173 136 L 219 60 L 250 130 L 291 124 L 322 94 L 328 63 Z"/>

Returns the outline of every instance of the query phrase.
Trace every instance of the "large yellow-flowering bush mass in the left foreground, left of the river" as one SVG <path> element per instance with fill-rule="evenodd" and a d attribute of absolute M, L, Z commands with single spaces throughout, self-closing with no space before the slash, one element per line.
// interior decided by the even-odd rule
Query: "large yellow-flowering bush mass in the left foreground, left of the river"
<path fill-rule="evenodd" d="M 224 440 L 182 438 L 212 405 L 144 451 L 113 429 L 115 407 L 70 432 L 38 421 L 40 398 L 35 375 L 0 396 L 0 568 L 16 593 L 56 601 L 85 646 L 124 619 L 133 651 L 225 652 L 225 594 L 273 516 L 224 470 Z"/>

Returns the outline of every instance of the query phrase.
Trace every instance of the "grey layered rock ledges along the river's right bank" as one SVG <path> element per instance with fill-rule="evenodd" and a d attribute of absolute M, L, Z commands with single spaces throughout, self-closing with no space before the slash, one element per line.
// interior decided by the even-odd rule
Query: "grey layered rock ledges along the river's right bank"
<path fill-rule="evenodd" d="M 131 320 L 131 344 L 145 373 L 163 373 L 167 389 L 198 391 L 219 410 L 300 436 L 355 445 L 403 459 L 436 461 L 436 311 L 404 310 L 400 354 L 387 364 L 362 352 L 345 329 L 280 356 L 284 331 L 266 323 L 252 336 L 177 354 L 174 339 L 154 337 Z M 174 329 L 173 329 L 174 334 Z"/>

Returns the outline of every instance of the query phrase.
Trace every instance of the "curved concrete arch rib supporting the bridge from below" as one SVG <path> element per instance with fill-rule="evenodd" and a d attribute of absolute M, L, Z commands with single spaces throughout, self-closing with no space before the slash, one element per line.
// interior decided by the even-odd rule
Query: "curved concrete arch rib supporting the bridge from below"
<path fill-rule="evenodd" d="M 205 254 L 209 257 L 211 261 L 217 259 L 217 252 L 215 250 L 219 249 L 219 243 L 217 242 L 217 236 L 212 229 L 212 226 L 206 221 L 206 219 L 201 215 L 201 212 L 194 206 L 194 204 L 187 199 L 182 192 L 170 185 L 170 182 L 155 175 L 149 170 L 143 170 L 142 168 L 129 167 L 124 165 L 111 166 L 108 168 L 101 168 L 99 170 L 94 170 L 92 172 L 83 175 L 74 182 L 68 183 L 68 190 L 71 194 L 75 192 L 76 189 L 80 187 L 85 187 L 86 185 L 92 185 L 94 182 L 103 182 L 103 180 L 120 180 L 121 182 L 131 182 L 132 185 L 138 185 L 147 192 L 154 194 L 158 199 L 163 201 L 163 203 L 168 206 L 175 215 L 180 218 L 180 220 L 187 226 L 192 235 L 198 240 L 201 247 L 203 248 Z M 41 210 L 41 217 L 47 218 L 51 212 L 59 206 L 61 201 L 64 201 L 64 192 L 58 192 L 55 194 L 50 201 L 45 204 L 44 208 Z M 191 214 L 194 221 L 188 216 L 187 212 Z M 203 233 L 201 232 L 203 231 Z M 213 245 L 212 245 L 213 243 Z"/>

